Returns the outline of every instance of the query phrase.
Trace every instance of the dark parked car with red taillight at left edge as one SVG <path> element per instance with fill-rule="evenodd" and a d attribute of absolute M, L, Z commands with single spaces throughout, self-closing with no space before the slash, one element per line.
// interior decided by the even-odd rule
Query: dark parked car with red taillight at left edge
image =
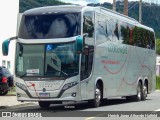
<path fill-rule="evenodd" d="M 0 66 L 0 95 L 6 95 L 13 86 L 13 75 L 6 67 Z"/>

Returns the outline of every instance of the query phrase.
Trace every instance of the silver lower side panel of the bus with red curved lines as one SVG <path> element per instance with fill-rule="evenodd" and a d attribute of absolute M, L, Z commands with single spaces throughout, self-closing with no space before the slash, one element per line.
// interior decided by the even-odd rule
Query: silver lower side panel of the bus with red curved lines
<path fill-rule="evenodd" d="M 135 95 L 138 80 L 145 78 L 149 91 L 155 88 L 154 50 L 108 41 L 95 52 L 94 75 L 103 80 L 104 97 Z"/>

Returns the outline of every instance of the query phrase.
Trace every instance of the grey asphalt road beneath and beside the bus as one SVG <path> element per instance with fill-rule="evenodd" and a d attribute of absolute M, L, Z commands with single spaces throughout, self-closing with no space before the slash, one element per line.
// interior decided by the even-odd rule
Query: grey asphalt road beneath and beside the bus
<path fill-rule="evenodd" d="M 87 103 L 73 105 L 51 105 L 48 109 L 41 109 L 38 105 L 17 108 L 0 109 L 0 112 L 12 113 L 39 113 L 43 117 L 67 117 L 76 119 L 92 120 L 96 118 L 109 117 L 122 119 L 127 117 L 149 117 L 150 119 L 160 117 L 160 91 L 149 94 L 146 101 L 134 102 L 126 99 L 115 98 L 104 102 L 99 108 L 90 108 Z M 55 120 L 56 118 L 54 118 Z M 66 119 L 66 118 L 64 118 Z M 120 118 L 119 118 L 120 119 Z"/>

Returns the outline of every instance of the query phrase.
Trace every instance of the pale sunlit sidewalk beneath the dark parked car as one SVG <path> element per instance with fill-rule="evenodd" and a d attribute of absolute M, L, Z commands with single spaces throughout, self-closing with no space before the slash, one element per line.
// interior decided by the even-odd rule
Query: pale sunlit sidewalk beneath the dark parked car
<path fill-rule="evenodd" d="M 17 97 L 13 95 L 0 96 L 0 109 L 5 109 L 8 107 L 24 107 L 24 106 L 34 106 L 37 105 L 36 102 L 19 102 Z"/>

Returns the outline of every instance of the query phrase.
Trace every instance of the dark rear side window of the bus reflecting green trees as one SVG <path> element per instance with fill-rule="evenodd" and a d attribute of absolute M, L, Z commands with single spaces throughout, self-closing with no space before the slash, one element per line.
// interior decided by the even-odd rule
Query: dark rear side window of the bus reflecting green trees
<path fill-rule="evenodd" d="M 152 31 L 124 22 L 121 22 L 120 26 L 120 40 L 123 44 L 155 49 L 155 38 Z"/>

